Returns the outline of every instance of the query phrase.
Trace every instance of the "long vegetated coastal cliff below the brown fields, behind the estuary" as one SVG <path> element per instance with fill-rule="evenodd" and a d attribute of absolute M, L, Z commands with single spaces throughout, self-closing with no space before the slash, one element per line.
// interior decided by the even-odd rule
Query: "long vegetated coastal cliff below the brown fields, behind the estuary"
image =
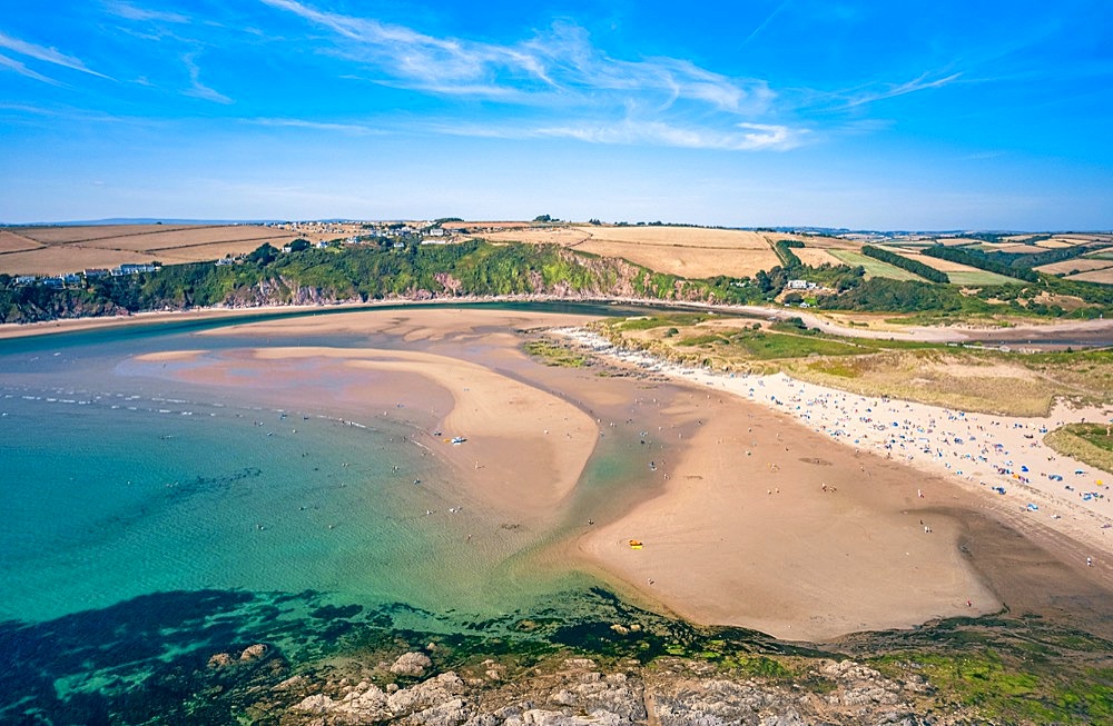
<path fill-rule="evenodd" d="M 263 250 L 263 248 L 260 248 Z M 730 280 L 687 280 L 553 245 L 256 250 L 236 265 L 164 266 L 73 284 L 0 285 L 0 324 L 225 307 L 545 296 L 743 302 Z M 0 282 L 3 282 L 0 280 Z"/>

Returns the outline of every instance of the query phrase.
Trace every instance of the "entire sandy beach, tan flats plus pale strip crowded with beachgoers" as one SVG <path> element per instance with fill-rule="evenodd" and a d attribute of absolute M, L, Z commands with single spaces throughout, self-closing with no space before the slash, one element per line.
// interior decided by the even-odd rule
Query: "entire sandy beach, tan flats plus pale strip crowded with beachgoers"
<path fill-rule="evenodd" d="M 539 565 L 584 568 L 695 621 L 815 642 L 1003 607 L 1043 611 L 1064 594 L 1107 617 L 1113 477 L 1047 460 L 1038 431 L 1054 421 L 1016 426 L 602 348 L 618 368 L 601 376 L 522 349 L 533 329 L 591 342 L 577 328 L 587 321 L 362 310 L 214 329 L 145 362 L 275 405 L 404 421 L 462 503 L 552 541 Z M 207 350 L 208 336 L 292 342 Z M 319 344 L 331 336 L 344 347 Z M 600 447 L 630 467 L 613 495 L 578 486 Z"/>

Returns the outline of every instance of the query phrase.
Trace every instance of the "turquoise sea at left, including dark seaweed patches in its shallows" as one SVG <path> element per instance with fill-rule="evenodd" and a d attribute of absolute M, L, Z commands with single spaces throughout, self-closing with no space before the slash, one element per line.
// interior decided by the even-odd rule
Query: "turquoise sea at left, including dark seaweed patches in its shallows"
<path fill-rule="evenodd" d="M 296 660 L 355 621 L 456 631 L 591 585 L 529 566 L 552 533 L 461 506 L 405 411 L 287 410 L 136 362 L 290 340 L 164 330 L 0 342 L 0 720 L 179 653 Z"/>

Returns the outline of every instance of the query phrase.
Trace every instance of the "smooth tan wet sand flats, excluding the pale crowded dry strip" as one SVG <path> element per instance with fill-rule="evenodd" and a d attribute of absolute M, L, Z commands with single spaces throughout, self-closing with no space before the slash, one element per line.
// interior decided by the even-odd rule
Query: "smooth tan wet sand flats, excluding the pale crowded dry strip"
<path fill-rule="evenodd" d="M 265 391 L 268 376 L 302 380 L 302 402 L 341 416 L 398 416 L 392 407 L 408 401 L 404 415 L 421 427 L 413 442 L 472 500 L 552 533 L 539 563 L 599 573 L 640 601 L 700 623 L 823 640 L 996 611 L 1042 587 L 1031 579 L 1038 573 L 1023 568 L 994 575 L 1017 533 L 1027 533 L 1044 570 L 1061 573 L 1056 601 L 1077 591 L 1100 603 L 1093 593 L 1113 589 L 1109 558 L 1080 571 L 1074 539 L 1011 517 L 952 478 L 855 451 L 784 411 L 683 375 L 548 368 L 521 350 L 520 330 L 584 320 L 361 311 L 206 334 L 336 335 L 352 347 L 191 349 L 164 360 L 181 364 L 174 375 L 215 387 Z M 454 436 L 467 441 L 444 440 Z M 633 461 L 629 481 L 610 494 L 582 486 L 599 447 Z M 993 526 L 972 527 L 974 516 Z M 643 547 L 630 548 L 630 539 Z"/>

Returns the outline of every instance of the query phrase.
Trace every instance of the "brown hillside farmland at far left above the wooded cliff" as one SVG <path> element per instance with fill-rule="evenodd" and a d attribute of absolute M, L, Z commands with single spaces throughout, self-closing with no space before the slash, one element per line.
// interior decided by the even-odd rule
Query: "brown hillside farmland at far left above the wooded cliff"
<path fill-rule="evenodd" d="M 0 272 L 62 275 L 129 262 L 204 262 L 282 247 L 294 231 L 262 225 L 104 225 L 12 227 L 0 231 Z"/>

